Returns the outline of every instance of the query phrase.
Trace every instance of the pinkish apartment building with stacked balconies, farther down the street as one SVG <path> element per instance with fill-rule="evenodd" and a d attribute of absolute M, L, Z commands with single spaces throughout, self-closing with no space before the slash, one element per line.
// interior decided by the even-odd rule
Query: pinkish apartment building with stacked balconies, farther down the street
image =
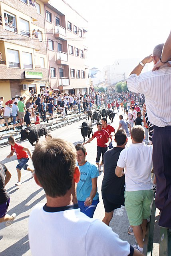
<path fill-rule="evenodd" d="M 51 88 L 89 93 L 87 20 L 64 0 L 45 4 L 45 12 Z"/>

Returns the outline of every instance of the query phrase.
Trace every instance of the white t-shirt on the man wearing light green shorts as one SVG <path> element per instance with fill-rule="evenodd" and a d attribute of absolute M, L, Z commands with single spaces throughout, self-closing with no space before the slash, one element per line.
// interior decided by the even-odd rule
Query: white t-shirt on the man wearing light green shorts
<path fill-rule="evenodd" d="M 117 166 L 125 168 L 126 191 L 149 190 L 153 188 L 151 170 L 153 146 L 144 142 L 130 144 L 121 151 Z"/>

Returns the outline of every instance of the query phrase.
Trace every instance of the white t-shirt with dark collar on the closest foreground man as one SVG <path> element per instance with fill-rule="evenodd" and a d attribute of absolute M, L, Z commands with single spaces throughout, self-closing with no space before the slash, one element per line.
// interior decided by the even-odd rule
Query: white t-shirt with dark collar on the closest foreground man
<path fill-rule="evenodd" d="M 52 208 L 37 204 L 29 218 L 32 256 L 128 256 L 130 245 L 106 224 L 74 206 Z M 47 209 L 48 208 L 48 211 Z M 78 206 L 77 206 L 78 207 Z M 58 211 L 57 211 L 58 209 Z M 61 210 L 60 210 L 61 209 Z M 98 241 L 97 241 L 98 237 Z M 132 250 L 132 248 L 131 248 Z M 133 251 L 130 255 L 133 255 Z"/>

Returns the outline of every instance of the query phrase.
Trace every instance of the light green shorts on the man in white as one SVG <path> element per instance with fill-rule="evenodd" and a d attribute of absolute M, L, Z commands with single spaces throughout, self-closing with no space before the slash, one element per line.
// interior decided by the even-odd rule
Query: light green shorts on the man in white
<path fill-rule="evenodd" d="M 141 225 L 143 220 L 151 216 L 153 190 L 125 191 L 125 209 L 129 224 Z"/>

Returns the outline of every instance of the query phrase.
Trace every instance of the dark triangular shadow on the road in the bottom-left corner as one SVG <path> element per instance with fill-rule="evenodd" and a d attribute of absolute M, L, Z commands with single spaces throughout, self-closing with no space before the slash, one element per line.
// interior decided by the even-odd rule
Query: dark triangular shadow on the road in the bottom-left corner
<path fill-rule="evenodd" d="M 6 250 L 0 252 L 1 256 L 22 256 L 30 249 L 29 242 L 28 242 L 28 235 L 24 236 L 22 239 L 20 239 L 15 244 L 12 244 Z M 12 254 L 11 254 L 12 252 Z"/>

